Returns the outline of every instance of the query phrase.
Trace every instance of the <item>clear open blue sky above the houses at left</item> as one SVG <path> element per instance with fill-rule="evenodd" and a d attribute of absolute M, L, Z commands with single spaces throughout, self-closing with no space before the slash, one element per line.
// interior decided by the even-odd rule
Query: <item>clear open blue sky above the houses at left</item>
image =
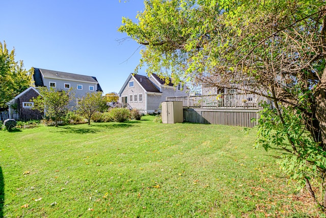
<path fill-rule="evenodd" d="M 95 76 L 104 94 L 119 92 L 139 63 L 139 44 L 117 31 L 142 0 L 3 0 L 0 41 L 24 67 Z M 145 75 L 145 68 L 139 71 Z"/>

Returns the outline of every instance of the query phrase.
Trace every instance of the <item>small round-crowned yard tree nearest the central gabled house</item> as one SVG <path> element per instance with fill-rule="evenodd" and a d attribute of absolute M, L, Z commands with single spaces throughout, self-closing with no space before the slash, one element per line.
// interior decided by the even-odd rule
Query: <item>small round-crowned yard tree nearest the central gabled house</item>
<path fill-rule="evenodd" d="M 87 92 L 85 96 L 78 100 L 77 113 L 84 116 L 90 125 L 94 113 L 103 111 L 106 101 L 101 92 Z"/>

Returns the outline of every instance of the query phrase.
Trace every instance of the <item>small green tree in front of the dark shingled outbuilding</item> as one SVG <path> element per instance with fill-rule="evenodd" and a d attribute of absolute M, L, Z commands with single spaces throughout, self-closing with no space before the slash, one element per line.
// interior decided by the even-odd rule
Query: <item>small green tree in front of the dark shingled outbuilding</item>
<path fill-rule="evenodd" d="M 33 98 L 34 109 L 41 113 L 45 111 L 45 116 L 53 120 L 57 127 L 58 122 L 63 120 L 69 111 L 69 102 L 73 99 L 70 92 L 71 89 L 68 91 L 53 88 L 50 88 L 50 90 L 47 88 L 41 89 L 40 95 Z"/>

